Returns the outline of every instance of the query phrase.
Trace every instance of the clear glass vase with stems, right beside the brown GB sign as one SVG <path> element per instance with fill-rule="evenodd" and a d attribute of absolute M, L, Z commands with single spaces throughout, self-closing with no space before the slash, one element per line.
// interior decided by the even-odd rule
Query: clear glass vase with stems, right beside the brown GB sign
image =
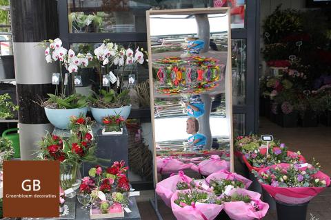
<path fill-rule="evenodd" d="M 72 188 L 72 192 L 66 197 L 72 198 L 76 195 L 75 190 L 81 185 L 81 164 L 64 162 L 60 164 L 60 184 L 63 190 Z"/>

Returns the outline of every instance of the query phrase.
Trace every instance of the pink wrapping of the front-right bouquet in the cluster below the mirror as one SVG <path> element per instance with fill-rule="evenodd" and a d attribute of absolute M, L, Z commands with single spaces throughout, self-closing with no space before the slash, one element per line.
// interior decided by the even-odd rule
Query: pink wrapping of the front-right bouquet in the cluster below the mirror
<path fill-rule="evenodd" d="M 230 190 L 229 195 L 237 192 L 240 195 L 248 195 L 250 199 L 257 203 L 260 207 L 259 211 L 255 211 L 251 203 L 244 203 L 243 201 L 232 201 L 224 203 L 224 210 L 226 214 L 233 220 L 252 220 L 261 219 L 268 212 L 269 205 L 261 201 L 261 195 L 258 192 L 252 192 L 243 188 L 235 188 Z"/>

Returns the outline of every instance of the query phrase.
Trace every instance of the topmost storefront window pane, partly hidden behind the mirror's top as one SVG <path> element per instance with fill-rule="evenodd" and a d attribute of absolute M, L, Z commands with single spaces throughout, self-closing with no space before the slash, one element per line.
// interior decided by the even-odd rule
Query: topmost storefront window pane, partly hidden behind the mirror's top
<path fill-rule="evenodd" d="M 223 6 L 231 7 L 231 27 L 243 28 L 245 2 L 223 0 Z M 70 33 L 125 33 L 146 32 L 146 10 L 219 7 L 218 0 L 68 0 Z"/>

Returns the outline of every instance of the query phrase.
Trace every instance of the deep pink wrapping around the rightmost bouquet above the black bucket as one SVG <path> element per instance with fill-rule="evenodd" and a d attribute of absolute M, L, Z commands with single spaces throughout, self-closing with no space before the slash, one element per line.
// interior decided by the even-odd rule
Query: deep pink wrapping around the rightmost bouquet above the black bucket
<path fill-rule="evenodd" d="M 282 167 L 288 167 L 290 164 L 278 164 Z M 263 168 L 259 171 L 259 174 L 262 172 L 265 173 L 266 170 L 269 170 L 270 168 L 274 168 L 277 165 L 272 165 L 266 168 Z M 303 168 L 304 170 L 304 168 Z M 321 180 L 326 181 L 326 186 L 330 186 L 330 177 L 328 175 L 325 175 L 321 171 L 316 173 L 314 177 L 317 177 Z M 312 198 L 314 198 L 316 195 L 318 195 L 320 192 L 324 190 L 324 187 L 274 187 L 267 184 L 261 184 L 261 186 L 269 192 L 269 194 L 276 199 L 277 201 L 282 201 L 284 203 L 291 203 L 291 204 L 297 204 L 297 203 L 305 203 L 307 201 L 310 201 Z"/>

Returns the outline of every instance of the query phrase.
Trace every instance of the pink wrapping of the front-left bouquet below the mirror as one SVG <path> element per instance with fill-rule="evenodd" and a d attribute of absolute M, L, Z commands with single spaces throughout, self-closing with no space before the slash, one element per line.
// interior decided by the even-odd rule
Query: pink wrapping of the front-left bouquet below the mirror
<path fill-rule="evenodd" d="M 181 206 L 174 203 L 178 198 L 178 192 L 188 192 L 188 190 L 177 190 L 171 197 L 171 209 L 177 220 L 212 220 L 223 209 L 223 205 L 208 203 L 195 203 L 192 206 L 181 208 Z"/>

